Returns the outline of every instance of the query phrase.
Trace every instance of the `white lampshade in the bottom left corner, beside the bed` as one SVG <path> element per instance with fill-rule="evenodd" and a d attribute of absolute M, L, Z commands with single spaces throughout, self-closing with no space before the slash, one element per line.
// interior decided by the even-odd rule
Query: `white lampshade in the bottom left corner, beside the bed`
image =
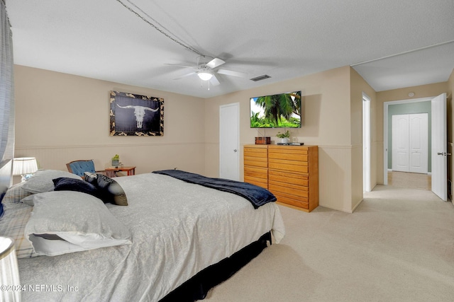
<path fill-rule="evenodd" d="M 0 236 L 0 285 L 10 286 L 0 291 L 0 301 L 21 301 L 21 282 L 14 240 Z"/>

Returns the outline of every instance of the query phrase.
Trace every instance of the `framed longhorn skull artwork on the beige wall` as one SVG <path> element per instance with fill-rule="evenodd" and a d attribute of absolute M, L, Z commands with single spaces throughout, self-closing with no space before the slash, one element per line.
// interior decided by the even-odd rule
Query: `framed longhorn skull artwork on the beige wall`
<path fill-rule="evenodd" d="M 164 135 L 164 99 L 118 91 L 110 92 L 110 135 Z"/>

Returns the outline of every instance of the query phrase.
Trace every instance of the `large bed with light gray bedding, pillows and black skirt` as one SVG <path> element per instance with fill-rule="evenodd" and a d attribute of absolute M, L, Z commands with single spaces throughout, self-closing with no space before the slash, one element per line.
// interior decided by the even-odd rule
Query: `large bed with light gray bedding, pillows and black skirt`
<path fill-rule="evenodd" d="M 65 171 L 50 171 L 47 178 L 70 178 Z M 38 174 L 30 180 L 44 178 Z M 284 236 L 275 202 L 255 207 L 238 194 L 157 173 L 115 182 L 127 206 L 104 204 L 86 192 L 57 191 L 55 182 L 50 192 L 31 194 L 22 184 L 6 191 L 0 235 L 16 237 L 24 301 L 195 301 Z M 93 204 L 96 209 L 85 209 Z M 49 213 L 43 223 L 42 216 Z M 82 250 L 63 240 L 70 238 L 67 229 L 54 231 L 58 221 L 85 224 L 104 214 L 112 229 L 101 217 L 94 228 L 102 240 L 78 239 Z M 41 230 L 47 223 L 48 229 Z M 18 239 L 21 235 L 25 238 Z M 31 237 L 35 248 L 27 240 Z M 38 243 L 43 240 L 56 241 L 60 250 L 54 245 L 50 251 L 41 249 Z M 43 255 L 36 255 L 36 249 Z"/>

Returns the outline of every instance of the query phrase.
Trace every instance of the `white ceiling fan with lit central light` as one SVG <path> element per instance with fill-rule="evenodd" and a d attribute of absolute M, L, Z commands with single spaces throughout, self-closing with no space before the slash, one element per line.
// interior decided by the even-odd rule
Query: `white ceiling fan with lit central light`
<path fill-rule="evenodd" d="M 209 62 L 209 59 L 211 59 Z M 197 64 L 196 66 L 187 66 L 187 65 L 180 65 L 180 64 L 166 64 L 166 65 L 171 65 L 171 66 L 180 66 L 184 68 L 191 68 L 195 69 L 195 71 L 190 72 L 189 74 L 184 74 L 183 76 L 179 76 L 178 78 L 174 80 L 179 80 L 182 78 L 185 78 L 187 76 L 192 76 L 193 74 L 196 74 L 199 76 L 199 78 L 202 81 L 209 81 L 211 85 L 217 86 L 219 85 L 219 80 L 216 77 L 216 74 L 225 74 L 226 76 L 238 76 L 240 78 L 245 78 L 248 76 L 248 74 L 245 74 L 243 72 L 239 71 L 232 71 L 232 70 L 227 70 L 227 69 L 217 69 L 218 66 L 221 66 L 222 64 L 225 64 L 221 59 L 214 58 L 214 57 L 209 57 L 209 56 L 199 56 L 197 57 Z"/>

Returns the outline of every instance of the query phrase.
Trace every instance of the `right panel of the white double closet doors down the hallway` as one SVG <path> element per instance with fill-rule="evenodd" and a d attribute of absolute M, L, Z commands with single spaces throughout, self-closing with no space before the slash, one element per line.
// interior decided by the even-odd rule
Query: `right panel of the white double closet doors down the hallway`
<path fill-rule="evenodd" d="M 428 114 L 409 115 L 409 172 L 428 172 Z"/>

